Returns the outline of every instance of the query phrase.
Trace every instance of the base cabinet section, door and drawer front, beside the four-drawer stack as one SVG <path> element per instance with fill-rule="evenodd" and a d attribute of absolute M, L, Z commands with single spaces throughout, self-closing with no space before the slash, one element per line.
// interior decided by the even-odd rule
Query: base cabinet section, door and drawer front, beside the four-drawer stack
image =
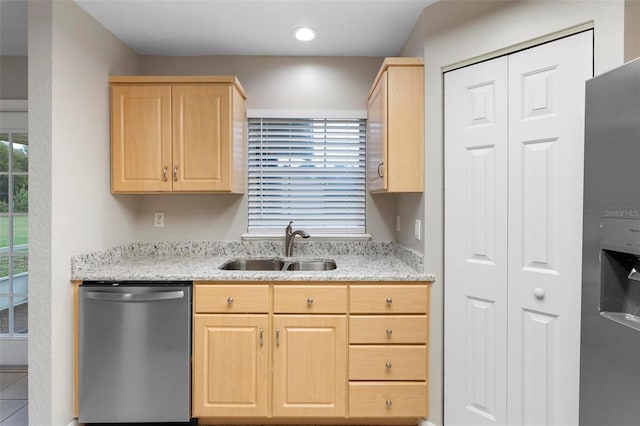
<path fill-rule="evenodd" d="M 273 294 L 273 416 L 344 417 L 347 287 L 274 285 Z"/>

